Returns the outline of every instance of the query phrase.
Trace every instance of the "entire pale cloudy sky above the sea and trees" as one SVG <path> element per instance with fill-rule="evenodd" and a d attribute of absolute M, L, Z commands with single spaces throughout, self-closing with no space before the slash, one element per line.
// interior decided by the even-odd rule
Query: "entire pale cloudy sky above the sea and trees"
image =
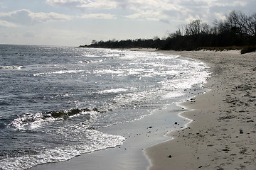
<path fill-rule="evenodd" d="M 165 38 L 193 20 L 211 25 L 230 11 L 252 15 L 255 8 L 255 0 L 0 0 L 0 44 Z"/>

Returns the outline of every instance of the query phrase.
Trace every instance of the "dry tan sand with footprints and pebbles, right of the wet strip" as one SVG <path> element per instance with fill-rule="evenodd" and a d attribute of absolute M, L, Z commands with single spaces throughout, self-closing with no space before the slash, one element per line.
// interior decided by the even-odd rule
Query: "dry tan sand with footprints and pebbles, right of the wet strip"
<path fill-rule="evenodd" d="M 161 51 L 206 62 L 211 89 L 181 105 L 188 127 L 146 149 L 150 170 L 256 169 L 256 53 Z"/>

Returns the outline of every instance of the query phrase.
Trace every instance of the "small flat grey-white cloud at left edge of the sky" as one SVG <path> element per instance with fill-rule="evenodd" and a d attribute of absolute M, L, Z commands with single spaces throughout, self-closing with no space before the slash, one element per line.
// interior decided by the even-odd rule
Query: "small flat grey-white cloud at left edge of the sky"
<path fill-rule="evenodd" d="M 31 25 L 35 23 L 46 23 L 52 21 L 68 21 L 72 16 L 60 13 L 33 13 L 27 9 L 12 11 L 9 13 L 0 13 L 0 20 L 6 23 L 12 23 L 13 26 L 18 25 Z M 11 26 L 11 25 L 10 25 Z"/>

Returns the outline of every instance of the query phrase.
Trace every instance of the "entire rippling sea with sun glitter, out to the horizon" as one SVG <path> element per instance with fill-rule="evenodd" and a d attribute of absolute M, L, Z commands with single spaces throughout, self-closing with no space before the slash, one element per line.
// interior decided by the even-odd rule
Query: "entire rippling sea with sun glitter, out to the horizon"
<path fill-rule="evenodd" d="M 207 65 L 132 50 L 0 45 L 0 169 L 28 169 L 122 145 L 102 128 L 187 96 Z"/>

